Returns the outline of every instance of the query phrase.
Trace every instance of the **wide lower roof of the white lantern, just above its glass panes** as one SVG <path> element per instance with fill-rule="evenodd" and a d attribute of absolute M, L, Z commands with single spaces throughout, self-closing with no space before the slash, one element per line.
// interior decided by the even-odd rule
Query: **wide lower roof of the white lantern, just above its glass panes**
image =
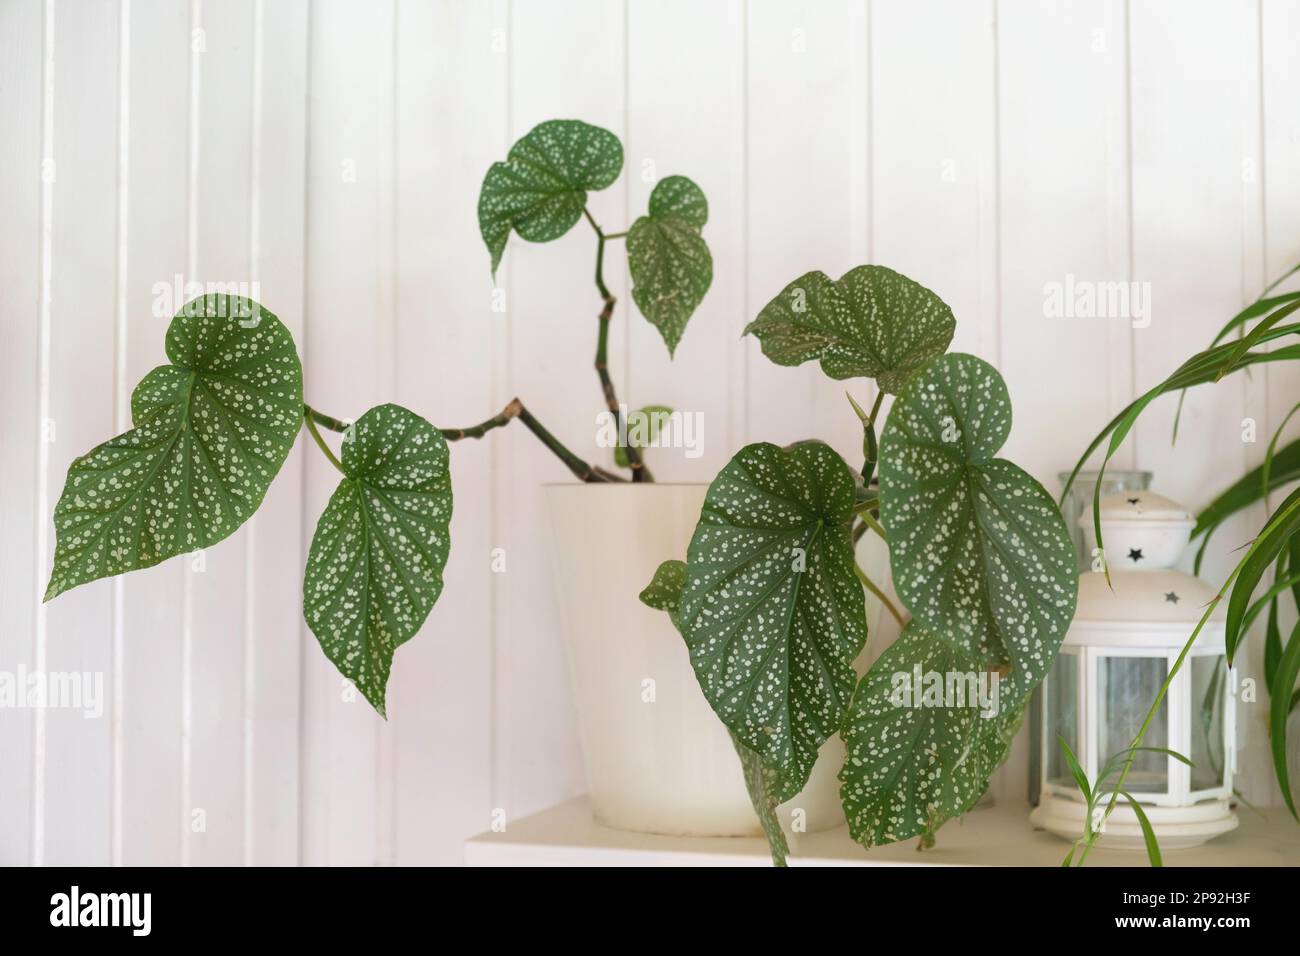
<path fill-rule="evenodd" d="M 1113 571 L 1110 581 L 1113 588 L 1106 585 L 1106 576 L 1100 571 L 1079 575 L 1076 626 L 1105 623 L 1143 628 L 1176 624 L 1186 640 L 1216 594 L 1214 588 L 1201 579 L 1173 570 Z M 1223 604 L 1219 602 L 1205 630 L 1222 631 L 1223 618 Z"/>

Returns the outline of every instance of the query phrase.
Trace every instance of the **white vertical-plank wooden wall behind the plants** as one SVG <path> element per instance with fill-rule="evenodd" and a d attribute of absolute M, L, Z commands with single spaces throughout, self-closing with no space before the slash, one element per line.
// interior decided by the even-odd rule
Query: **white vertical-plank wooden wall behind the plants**
<path fill-rule="evenodd" d="M 954 347 L 1009 381 L 1006 454 L 1056 490 L 1300 261 L 1297 42 L 1297 0 L 0 0 L 0 670 L 100 671 L 109 696 L 100 721 L 0 711 L 0 862 L 454 862 L 495 808 L 584 787 L 541 507 L 567 473 L 523 429 L 452 450 L 446 591 L 396 656 L 387 723 L 302 624 L 334 484 L 309 445 L 202 570 L 39 604 L 69 462 L 127 427 L 164 360 L 155 282 L 259 281 L 334 415 L 398 401 L 464 425 L 517 394 L 601 459 L 589 230 L 512 242 L 500 313 L 474 219 L 511 142 L 578 117 L 627 143 L 592 198 L 606 226 L 645 208 L 651 163 L 710 199 L 714 286 L 676 362 L 614 258 L 621 395 L 705 414 L 703 458 L 659 451 L 662 479 L 707 480 L 751 440 L 854 451 L 842 386 L 738 334 L 789 278 L 876 261 L 953 306 Z M 1150 282 L 1150 326 L 1045 319 L 1067 273 Z M 1202 389 L 1176 446 L 1161 403 L 1119 464 L 1202 505 L 1297 398 L 1295 371 Z M 1219 535 L 1210 576 L 1258 518 Z M 996 791 L 1023 777 L 1022 744 Z"/>

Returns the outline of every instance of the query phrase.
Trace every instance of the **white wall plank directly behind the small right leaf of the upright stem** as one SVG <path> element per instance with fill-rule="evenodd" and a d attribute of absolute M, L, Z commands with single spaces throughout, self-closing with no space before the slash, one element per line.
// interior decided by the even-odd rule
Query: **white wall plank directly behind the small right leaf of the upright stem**
<path fill-rule="evenodd" d="M 714 255 L 714 281 L 670 359 L 663 339 L 630 302 L 627 401 L 632 408 L 666 405 L 698 416 L 699 457 L 686 449 L 653 449 L 646 463 L 658 481 L 708 481 L 741 445 L 728 411 L 744 380 L 731 372 L 744 362 L 745 163 L 744 5 L 686 0 L 633 0 L 628 10 L 628 212 L 630 225 L 646 213 L 650 193 L 666 176 L 686 176 L 708 198 L 705 239 Z M 690 22 L 690 30 L 681 23 Z M 684 62 L 708 64 L 684 70 Z M 625 271 L 624 243 L 612 263 Z M 729 360 L 732 359 L 732 360 Z M 694 453 L 692 453 L 694 454 Z"/>

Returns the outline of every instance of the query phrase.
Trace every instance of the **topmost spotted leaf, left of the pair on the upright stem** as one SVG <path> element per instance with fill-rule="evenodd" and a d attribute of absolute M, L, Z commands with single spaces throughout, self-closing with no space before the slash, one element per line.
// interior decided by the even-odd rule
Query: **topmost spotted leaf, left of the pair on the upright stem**
<path fill-rule="evenodd" d="M 602 190 L 623 169 L 623 144 L 580 120 L 534 126 L 493 163 L 478 193 L 478 232 L 497 272 L 510 230 L 529 242 L 558 239 L 582 215 L 588 190 Z"/>

